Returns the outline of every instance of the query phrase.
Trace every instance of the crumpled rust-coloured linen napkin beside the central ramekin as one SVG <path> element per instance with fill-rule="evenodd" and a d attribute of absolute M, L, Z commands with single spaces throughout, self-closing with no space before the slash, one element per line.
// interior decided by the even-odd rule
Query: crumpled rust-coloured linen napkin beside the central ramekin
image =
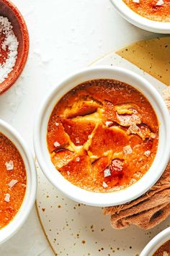
<path fill-rule="evenodd" d="M 166 90 L 165 101 L 170 108 L 170 88 Z M 125 229 L 135 224 L 142 229 L 151 229 L 170 215 L 170 161 L 164 174 L 143 196 L 124 205 L 104 208 L 104 214 L 111 215 L 115 229 Z"/>

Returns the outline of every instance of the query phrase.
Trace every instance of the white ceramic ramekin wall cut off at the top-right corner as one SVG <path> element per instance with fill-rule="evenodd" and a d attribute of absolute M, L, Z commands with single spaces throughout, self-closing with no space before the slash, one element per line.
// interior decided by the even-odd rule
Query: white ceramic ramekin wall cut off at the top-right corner
<path fill-rule="evenodd" d="M 148 30 L 155 33 L 170 33 L 170 22 L 158 22 L 154 20 L 148 20 L 145 17 L 140 16 L 139 14 L 133 12 L 124 1 L 122 0 L 110 0 L 114 7 L 117 9 L 117 12 L 128 22 L 133 25 L 142 28 L 143 30 Z"/>

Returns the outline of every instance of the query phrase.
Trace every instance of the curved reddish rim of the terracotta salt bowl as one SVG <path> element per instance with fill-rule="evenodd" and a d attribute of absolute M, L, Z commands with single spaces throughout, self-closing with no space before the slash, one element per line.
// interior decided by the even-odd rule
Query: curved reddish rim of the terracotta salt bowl
<path fill-rule="evenodd" d="M 5 93 L 6 90 L 9 90 L 9 88 L 12 87 L 12 85 L 14 85 L 14 82 L 16 82 L 20 76 L 20 74 L 22 74 L 22 71 L 24 69 L 24 66 L 27 62 L 27 58 L 28 58 L 28 54 L 29 54 L 29 48 L 30 48 L 30 39 L 29 39 L 29 33 L 28 33 L 28 29 L 27 29 L 27 25 L 26 22 L 24 20 L 24 17 L 22 16 L 21 12 L 19 12 L 19 9 L 12 3 L 12 1 L 10 0 L 3 0 L 3 3 L 6 4 L 7 7 L 9 7 L 9 9 L 12 10 L 12 12 L 14 13 L 14 16 L 17 17 L 17 20 L 19 22 L 19 25 L 21 27 L 21 31 L 23 34 L 23 54 L 21 56 L 21 59 L 19 60 L 19 66 L 17 67 L 17 69 L 15 69 L 14 74 L 10 75 L 9 73 L 9 77 L 7 77 L 7 82 L 6 80 L 4 80 L 4 82 L 1 82 L 0 84 L 0 95 L 2 93 Z M 17 75 L 16 75 L 17 73 Z"/>

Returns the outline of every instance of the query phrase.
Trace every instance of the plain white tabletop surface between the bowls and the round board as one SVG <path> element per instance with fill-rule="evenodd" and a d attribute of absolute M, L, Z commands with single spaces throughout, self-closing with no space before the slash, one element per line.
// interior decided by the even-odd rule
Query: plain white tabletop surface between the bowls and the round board
<path fill-rule="evenodd" d="M 32 128 L 42 99 L 69 73 L 116 48 L 153 33 L 130 25 L 109 0 L 14 0 L 30 32 L 22 76 L 0 96 L 0 118 L 12 124 L 33 152 Z M 0 247 L 1 256 L 50 256 L 35 208 L 22 229 Z"/>

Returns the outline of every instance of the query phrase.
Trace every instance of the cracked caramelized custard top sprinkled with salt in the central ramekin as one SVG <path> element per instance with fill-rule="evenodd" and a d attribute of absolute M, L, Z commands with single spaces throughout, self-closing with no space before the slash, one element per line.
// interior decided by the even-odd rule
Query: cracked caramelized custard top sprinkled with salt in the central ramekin
<path fill-rule="evenodd" d="M 91 80 L 56 104 L 47 142 L 51 161 L 69 182 L 111 192 L 135 183 L 150 168 L 158 147 L 158 120 L 132 86 Z"/>

